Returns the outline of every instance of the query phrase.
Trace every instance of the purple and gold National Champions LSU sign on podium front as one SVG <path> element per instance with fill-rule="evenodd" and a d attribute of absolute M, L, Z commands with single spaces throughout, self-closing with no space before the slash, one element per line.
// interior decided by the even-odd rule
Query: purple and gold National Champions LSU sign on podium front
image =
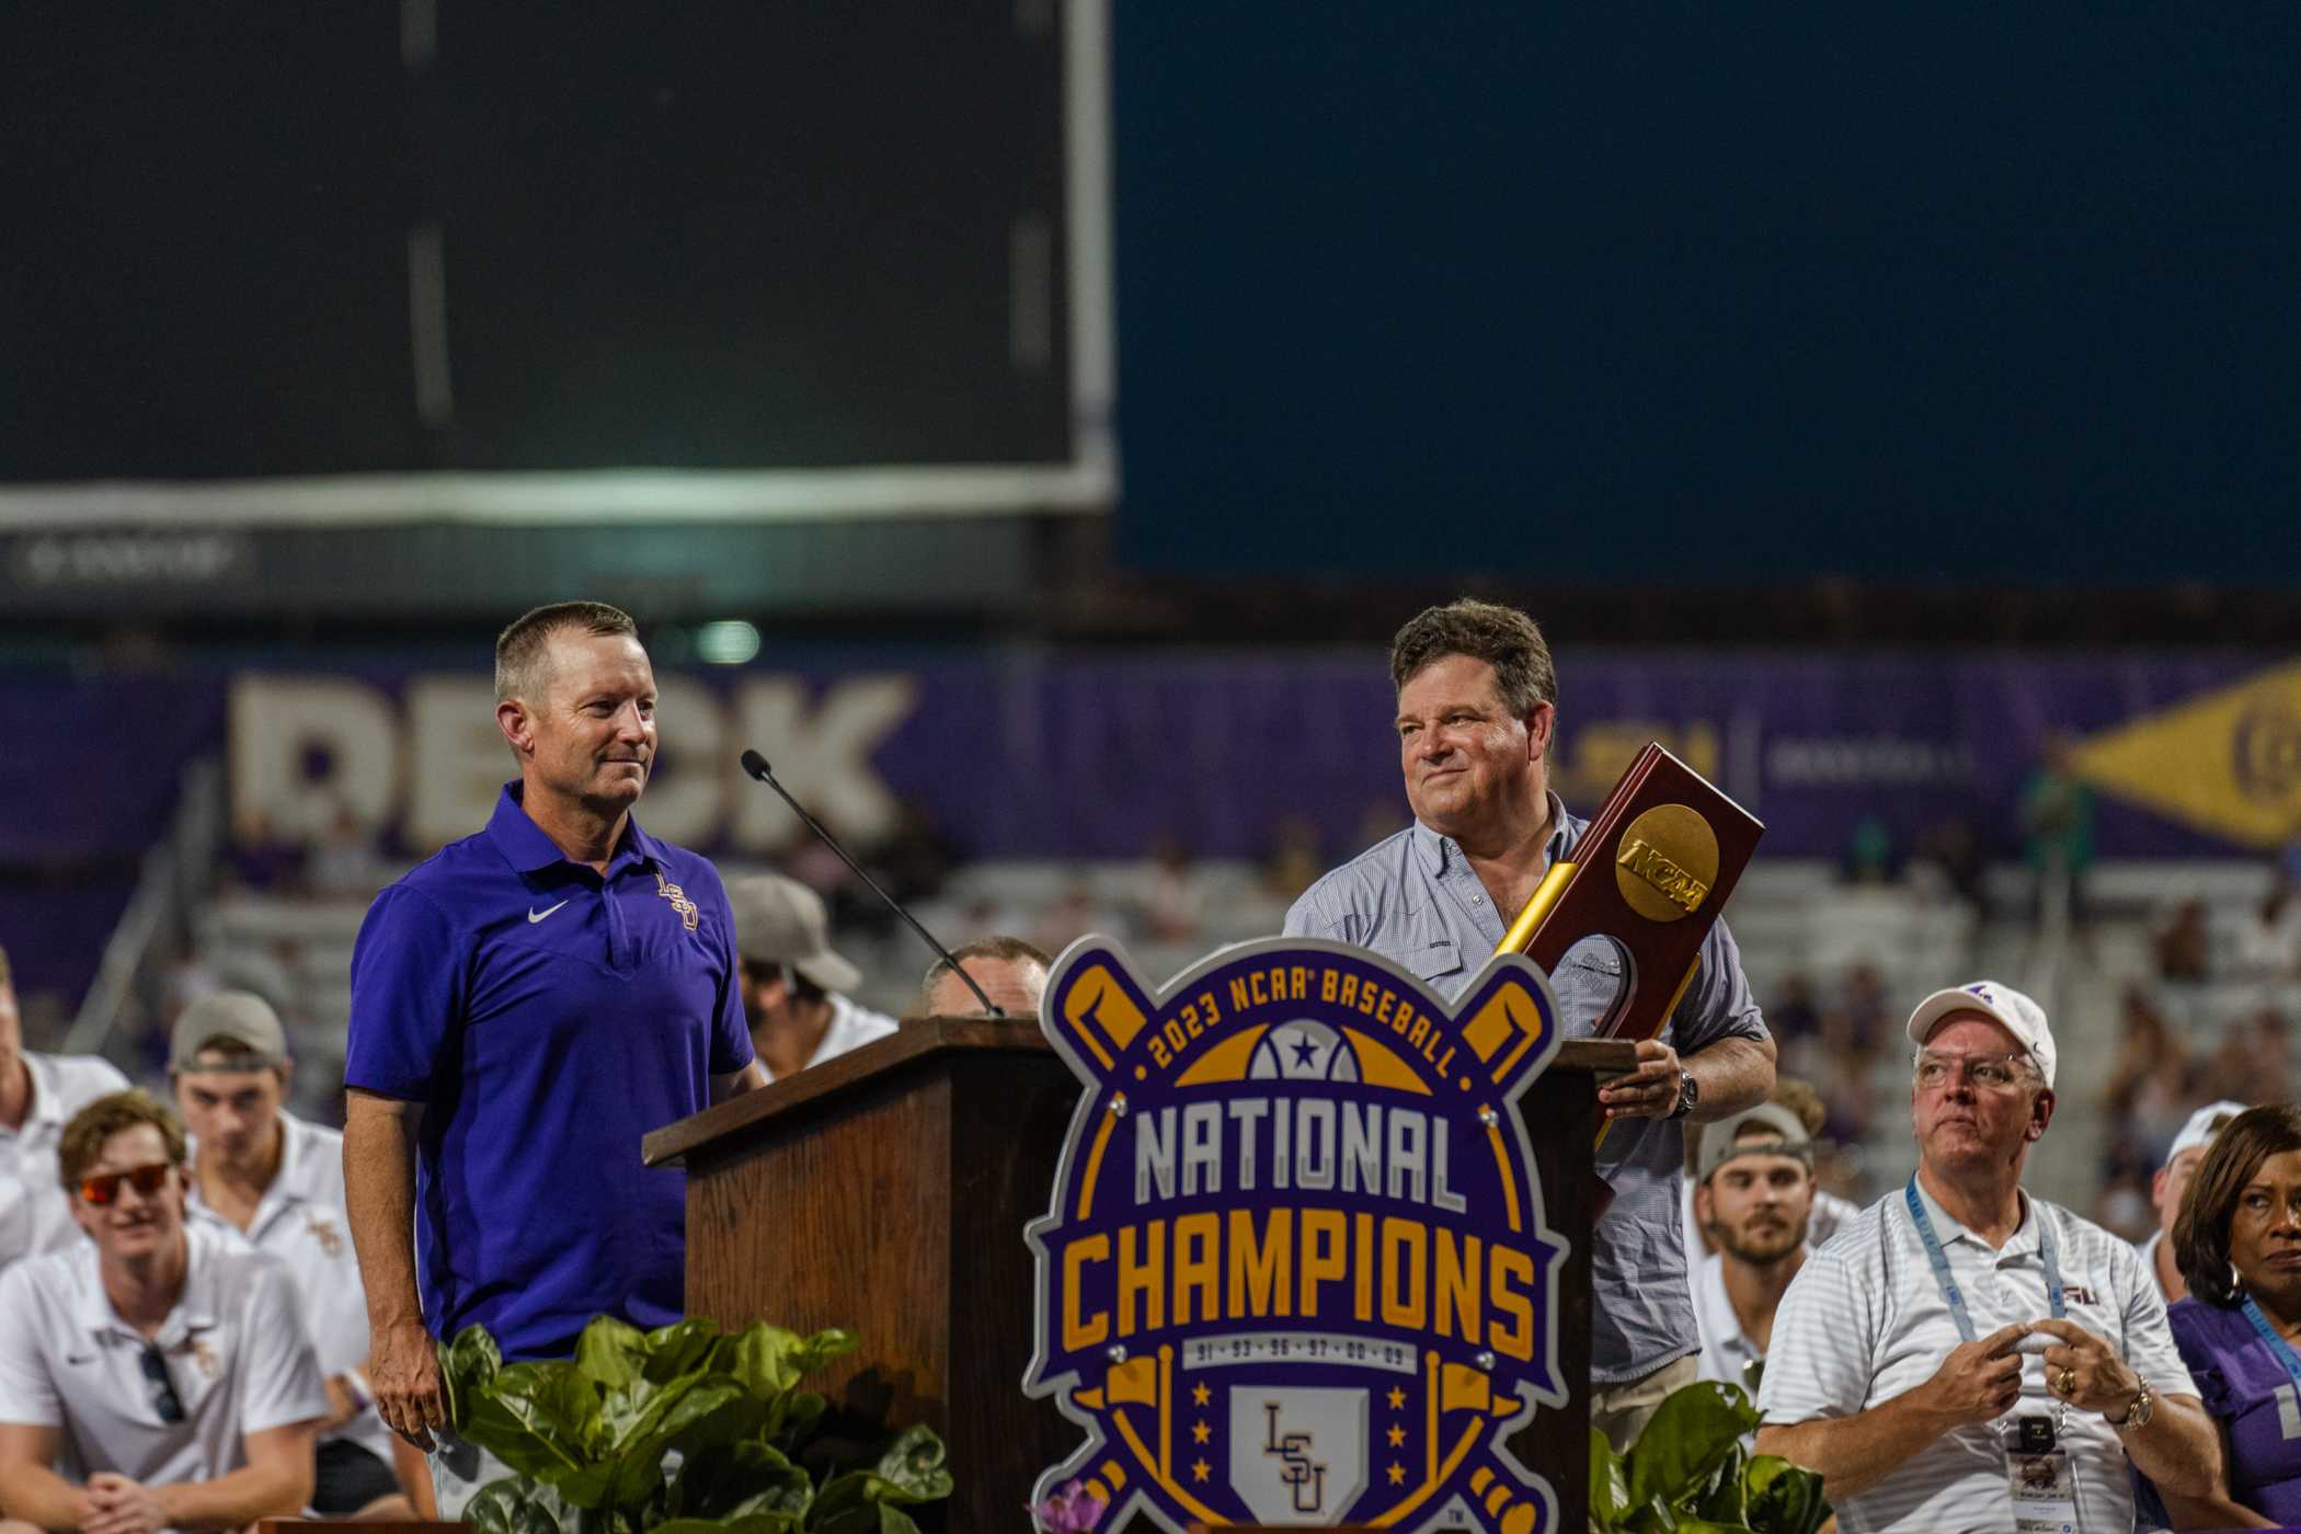
<path fill-rule="evenodd" d="M 1164 989 L 1102 938 L 1040 1028 L 1086 1086 L 1038 1256 L 1038 1352 L 1118 1523 L 1535 1534 L 1551 1488 L 1503 1447 L 1562 1405 L 1516 1099 L 1558 1051 L 1542 971 L 1447 1007 L 1339 943 L 1270 938 Z"/>

